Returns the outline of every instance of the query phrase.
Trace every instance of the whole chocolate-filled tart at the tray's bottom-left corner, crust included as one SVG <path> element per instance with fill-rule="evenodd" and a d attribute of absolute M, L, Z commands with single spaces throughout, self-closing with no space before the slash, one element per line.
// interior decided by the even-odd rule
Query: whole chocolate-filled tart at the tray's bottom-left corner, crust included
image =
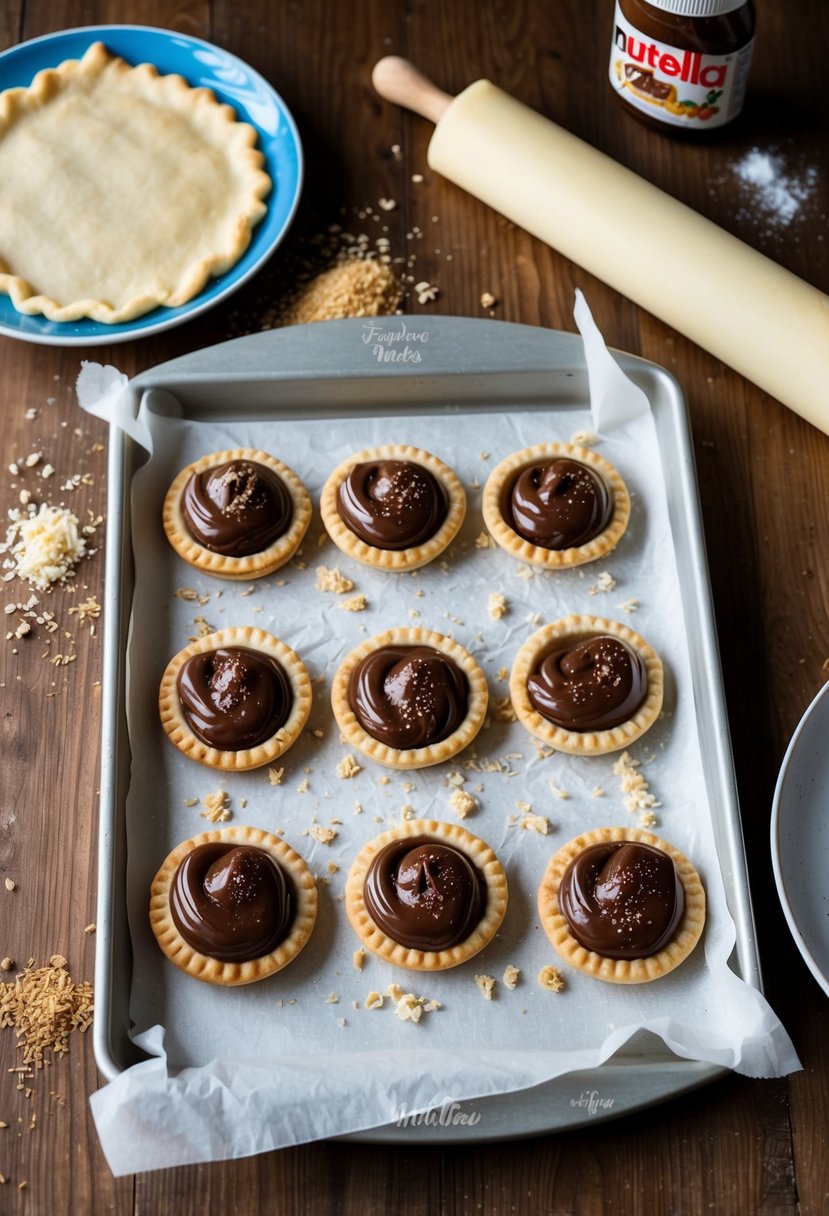
<path fill-rule="evenodd" d="M 259 828 L 202 832 L 152 883 L 150 924 L 171 963 L 208 984 L 253 984 L 305 946 L 317 890 L 294 850 Z"/>

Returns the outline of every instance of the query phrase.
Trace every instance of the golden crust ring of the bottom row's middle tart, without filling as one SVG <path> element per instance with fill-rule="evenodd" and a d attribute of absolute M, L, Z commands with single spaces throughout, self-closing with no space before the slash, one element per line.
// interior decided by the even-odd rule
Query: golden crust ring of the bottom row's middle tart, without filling
<path fill-rule="evenodd" d="M 428 837 L 440 844 L 451 845 L 473 862 L 486 883 L 486 911 L 466 941 L 447 950 L 413 950 L 401 946 L 394 938 L 374 924 L 363 897 L 368 868 L 387 844 L 393 840 L 405 840 L 412 837 Z M 363 845 L 351 865 L 345 884 L 345 912 L 351 928 L 361 942 L 373 955 L 395 967 L 406 967 L 412 972 L 444 972 L 458 967 L 487 946 L 501 927 L 507 911 L 507 877 L 492 849 L 479 837 L 467 832 L 457 823 L 439 823 L 435 820 L 408 820 L 399 827 L 383 832 L 382 835 Z"/>

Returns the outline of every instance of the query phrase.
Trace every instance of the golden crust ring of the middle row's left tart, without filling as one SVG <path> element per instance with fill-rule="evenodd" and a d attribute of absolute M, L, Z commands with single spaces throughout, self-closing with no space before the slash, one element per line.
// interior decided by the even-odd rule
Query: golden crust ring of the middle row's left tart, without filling
<path fill-rule="evenodd" d="M 270 739 L 259 743 L 255 748 L 224 751 L 221 748 L 209 747 L 193 733 L 179 698 L 176 681 L 179 671 L 193 654 L 204 654 L 208 651 L 218 651 L 220 647 L 233 646 L 260 651 L 276 659 L 288 677 L 294 700 L 288 720 Z M 311 711 L 311 681 L 303 660 L 278 637 L 249 625 L 231 626 L 230 629 L 220 629 L 215 634 L 208 634 L 207 637 L 197 638 L 170 659 L 158 692 L 158 710 L 162 726 L 179 751 L 210 769 L 244 772 L 248 769 L 260 769 L 265 764 L 271 764 L 287 751 L 292 743 L 297 742 Z"/>

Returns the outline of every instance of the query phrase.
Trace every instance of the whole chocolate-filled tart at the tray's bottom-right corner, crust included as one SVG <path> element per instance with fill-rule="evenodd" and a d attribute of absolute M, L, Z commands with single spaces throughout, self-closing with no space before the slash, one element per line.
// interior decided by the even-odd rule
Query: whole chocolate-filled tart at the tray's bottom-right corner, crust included
<path fill-rule="evenodd" d="M 538 916 L 564 962 L 610 984 L 678 967 L 705 925 L 693 865 L 641 828 L 596 828 L 564 845 L 538 888 Z"/>

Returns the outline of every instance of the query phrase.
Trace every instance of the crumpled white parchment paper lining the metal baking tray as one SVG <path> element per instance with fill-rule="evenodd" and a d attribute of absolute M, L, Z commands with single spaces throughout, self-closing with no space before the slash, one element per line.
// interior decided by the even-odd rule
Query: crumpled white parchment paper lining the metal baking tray
<path fill-rule="evenodd" d="M 393 1122 L 402 1110 L 440 1107 L 447 1097 L 526 1088 L 598 1065 L 642 1028 L 679 1057 L 749 1075 L 783 1075 L 800 1066 L 765 998 L 727 966 L 735 934 L 703 777 L 687 623 L 650 409 L 608 355 L 583 303 L 577 320 L 587 337 L 593 417 L 583 409 L 515 410 L 254 426 L 194 423 L 142 410 L 139 423 L 147 428 L 153 455 L 134 480 L 128 902 L 135 955 L 131 1017 L 137 1042 L 153 1059 L 126 1070 L 91 1099 L 115 1175 L 243 1156 Z M 85 376 L 81 404 L 96 409 L 102 384 L 112 388 L 113 381 L 94 367 Z M 111 394 L 103 412 L 112 409 Z M 494 465 L 519 447 L 570 440 L 585 430 L 600 432 L 597 451 L 620 469 L 631 490 L 631 524 L 616 552 L 576 570 L 526 578 L 520 563 L 501 550 L 476 547 L 480 488 Z M 164 540 L 164 492 L 184 465 L 205 452 L 237 446 L 272 451 L 297 471 L 317 503 L 325 477 L 340 460 L 390 441 L 434 451 L 467 486 L 467 522 L 445 562 L 413 575 L 371 570 L 343 557 L 331 541 L 320 545 L 322 525 L 315 514 L 300 561 L 244 585 L 198 574 Z M 350 595 L 367 597 L 365 612 L 343 610 L 348 595 L 315 589 L 322 564 L 354 579 Z M 615 580 L 609 591 L 598 590 L 603 572 Z M 205 602 L 179 598 L 175 592 L 182 587 Z M 508 613 L 494 620 L 487 603 L 498 591 Z M 472 651 L 492 699 L 502 700 L 504 671 L 524 640 L 569 613 L 622 620 L 662 657 L 665 713 L 631 750 L 661 804 L 652 831 L 694 861 L 709 913 L 703 945 L 658 983 L 622 989 L 562 968 L 566 987 L 553 995 L 536 983 L 543 964 L 560 963 L 536 917 L 536 889 L 548 858 L 571 837 L 637 823 L 613 773 L 617 756 L 542 756 L 520 725 L 494 716 L 476 745 L 455 761 L 399 775 L 366 760 L 362 772 L 344 781 L 335 769 L 348 749 L 339 742 L 328 697 L 337 665 L 363 637 L 394 624 L 418 624 L 451 634 Z M 267 770 L 213 772 L 182 758 L 163 736 L 157 713 L 162 672 L 203 623 L 215 629 L 256 625 L 276 634 L 301 655 L 316 681 L 309 730 L 278 761 L 284 770 L 280 786 L 271 784 Z M 492 845 L 507 872 L 509 908 L 502 930 L 453 972 L 407 973 L 371 955 L 357 972 L 353 952 L 359 942 L 343 908 L 350 862 L 366 840 L 400 821 L 405 806 L 417 817 L 456 818 L 449 801 L 453 772 L 480 804 L 464 826 Z M 210 827 L 199 817 L 201 806 L 186 801 L 219 788 L 230 795 L 233 823 L 283 829 L 320 889 L 317 925 L 299 958 L 271 979 L 236 990 L 214 989 L 176 970 L 147 923 L 150 884 L 164 856 Z M 549 834 L 521 829 L 519 804 L 547 817 Z M 331 845 L 308 834 L 314 823 L 335 827 Z M 335 872 L 329 872 L 332 863 Z M 508 963 L 520 968 L 514 991 L 501 980 Z M 483 998 L 476 974 L 497 979 L 491 1002 Z M 440 1009 L 413 1024 L 395 1017 L 388 997 L 382 1009 L 363 1008 L 371 990 L 385 992 L 391 983 L 439 1001 Z"/>

